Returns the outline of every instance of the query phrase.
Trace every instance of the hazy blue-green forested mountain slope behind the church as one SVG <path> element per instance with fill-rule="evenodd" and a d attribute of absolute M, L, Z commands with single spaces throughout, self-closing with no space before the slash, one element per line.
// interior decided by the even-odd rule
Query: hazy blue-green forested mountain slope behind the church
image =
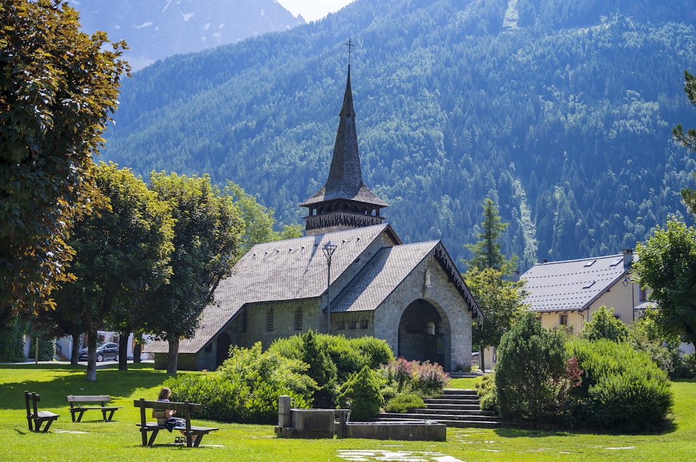
<path fill-rule="evenodd" d="M 320 22 L 169 58 L 125 82 L 104 157 L 230 179 L 301 222 L 329 170 L 347 47 L 365 183 L 406 241 L 475 240 L 485 197 L 521 270 L 633 248 L 696 164 L 687 0 L 357 0 Z"/>

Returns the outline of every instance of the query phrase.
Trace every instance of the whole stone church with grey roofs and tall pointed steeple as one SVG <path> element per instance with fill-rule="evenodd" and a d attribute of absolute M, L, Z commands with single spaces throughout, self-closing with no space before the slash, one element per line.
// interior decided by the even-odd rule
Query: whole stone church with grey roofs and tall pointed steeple
<path fill-rule="evenodd" d="M 439 240 L 404 244 L 363 183 L 350 65 L 326 184 L 300 204 L 306 236 L 255 245 L 223 279 L 178 367 L 214 370 L 230 345 L 304 333 L 386 340 L 396 356 L 455 370 L 471 362 L 479 309 Z M 145 347 L 166 368 L 168 344 Z"/>

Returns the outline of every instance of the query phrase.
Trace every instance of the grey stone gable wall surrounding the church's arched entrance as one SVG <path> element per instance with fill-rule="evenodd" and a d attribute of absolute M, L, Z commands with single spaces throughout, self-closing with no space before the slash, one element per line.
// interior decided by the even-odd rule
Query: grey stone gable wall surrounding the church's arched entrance
<path fill-rule="evenodd" d="M 428 281 L 426 270 L 430 270 Z M 445 355 L 445 370 L 454 370 L 460 364 L 470 364 L 471 311 L 433 256 L 422 261 L 374 313 L 374 336 L 386 340 L 395 354 L 398 354 L 402 315 L 406 307 L 417 299 L 426 300 L 447 317 L 450 334 L 445 340 L 445 348 L 448 348 L 450 354 Z"/>

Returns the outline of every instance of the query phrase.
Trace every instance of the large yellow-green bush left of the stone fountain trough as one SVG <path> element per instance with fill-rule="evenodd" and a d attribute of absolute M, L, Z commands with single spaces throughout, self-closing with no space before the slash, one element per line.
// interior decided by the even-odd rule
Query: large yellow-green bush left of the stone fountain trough
<path fill-rule="evenodd" d="M 316 383 L 306 363 L 277 352 L 233 347 L 216 372 L 179 374 L 165 381 L 173 399 L 203 404 L 202 418 L 223 422 L 271 424 L 278 421 L 278 397 L 289 395 L 298 408 L 308 408 Z"/>

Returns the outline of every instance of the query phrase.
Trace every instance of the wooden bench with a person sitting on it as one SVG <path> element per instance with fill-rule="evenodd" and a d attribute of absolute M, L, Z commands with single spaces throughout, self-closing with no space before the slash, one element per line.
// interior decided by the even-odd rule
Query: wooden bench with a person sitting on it
<path fill-rule="evenodd" d="M 200 440 L 203 439 L 203 435 L 209 434 L 211 431 L 216 431 L 216 428 L 209 427 L 193 427 L 191 425 L 191 413 L 200 412 L 203 406 L 196 403 L 190 403 L 188 401 L 177 403 L 177 402 L 164 402 L 164 401 L 146 401 L 145 399 L 136 399 L 133 405 L 140 408 L 140 423 L 136 424 L 140 427 L 141 436 L 143 437 L 143 446 L 152 446 L 155 443 L 155 438 L 160 430 L 166 430 L 167 427 L 160 425 L 157 422 L 148 422 L 147 409 L 171 409 L 176 411 L 176 417 L 181 417 L 186 420 L 186 425 L 183 427 L 174 427 L 175 430 L 183 430 L 184 436 L 186 436 L 186 445 L 188 447 L 198 447 L 200 445 Z M 150 439 L 148 440 L 148 431 L 152 431 Z M 193 436 L 196 436 L 195 440 Z"/>

